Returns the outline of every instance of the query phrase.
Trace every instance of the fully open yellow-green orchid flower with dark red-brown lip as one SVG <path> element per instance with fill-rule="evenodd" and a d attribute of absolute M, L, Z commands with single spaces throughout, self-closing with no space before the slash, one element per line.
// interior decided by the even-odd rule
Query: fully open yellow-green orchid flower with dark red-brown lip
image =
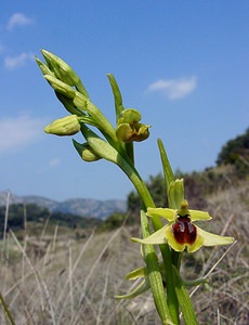
<path fill-rule="evenodd" d="M 176 251 L 186 248 L 188 252 L 196 251 L 201 246 L 228 245 L 234 242 L 233 237 L 219 236 L 194 224 L 195 221 L 208 221 L 212 218 L 205 211 L 188 210 L 185 199 L 180 209 L 148 208 L 146 214 L 166 218 L 169 223 L 144 239 L 132 238 L 133 242 L 152 245 L 168 243 Z"/>

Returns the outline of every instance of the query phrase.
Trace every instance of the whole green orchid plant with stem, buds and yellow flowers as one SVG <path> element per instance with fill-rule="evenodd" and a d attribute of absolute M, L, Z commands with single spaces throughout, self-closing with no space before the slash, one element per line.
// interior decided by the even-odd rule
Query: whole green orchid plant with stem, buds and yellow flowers
<path fill-rule="evenodd" d="M 92 103 L 80 78 L 67 63 L 49 51 L 42 50 L 41 53 L 44 62 L 36 57 L 37 64 L 58 101 L 69 113 L 52 121 L 44 131 L 56 135 L 74 135 L 81 132 L 82 143 L 73 140 L 81 159 L 89 162 L 105 159 L 117 165 L 133 183 L 142 200 L 142 238 L 131 239 L 142 245 L 142 260 L 145 266 L 127 275 L 128 280 L 141 278 L 139 286 L 116 298 L 131 299 L 150 289 L 162 324 L 180 324 L 180 311 L 185 324 L 197 324 L 186 283 L 180 273 L 182 255 L 185 250 L 194 252 L 201 246 L 228 245 L 234 238 L 206 232 L 195 224 L 198 220 L 209 221 L 211 217 L 206 211 L 188 209 L 184 196 L 184 180 L 174 179 L 161 140 L 158 140 L 158 148 L 169 207 L 155 206 L 144 180 L 135 168 L 133 151 L 134 142 L 144 141 L 149 136 L 150 126 L 141 122 L 139 110 L 123 107 L 122 96 L 113 75 L 107 77 L 114 94 L 116 126 L 113 126 Z M 96 133 L 95 130 L 100 132 Z M 162 219 L 168 221 L 166 225 Z M 196 284 L 201 282 L 205 280 L 198 280 Z"/>

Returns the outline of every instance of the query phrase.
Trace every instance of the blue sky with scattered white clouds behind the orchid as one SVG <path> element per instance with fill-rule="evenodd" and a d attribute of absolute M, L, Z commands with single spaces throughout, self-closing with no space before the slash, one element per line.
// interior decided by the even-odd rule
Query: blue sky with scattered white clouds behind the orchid
<path fill-rule="evenodd" d="M 133 188 L 115 165 L 83 162 L 70 138 L 43 133 L 67 113 L 34 61 L 40 49 L 73 66 L 113 122 L 115 75 L 124 106 L 152 125 L 135 145 L 145 180 L 161 171 L 158 138 L 174 170 L 200 171 L 249 127 L 249 1 L 2 1 L 0 191 L 63 200 Z"/>

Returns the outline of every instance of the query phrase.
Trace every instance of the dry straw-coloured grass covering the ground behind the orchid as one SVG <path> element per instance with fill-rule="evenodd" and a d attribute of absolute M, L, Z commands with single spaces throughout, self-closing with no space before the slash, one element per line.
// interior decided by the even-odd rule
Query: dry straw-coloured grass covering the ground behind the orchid
<path fill-rule="evenodd" d="M 209 198 L 210 230 L 238 240 L 228 253 L 223 257 L 227 247 L 205 248 L 184 259 L 186 278 L 208 274 L 210 280 L 192 297 L 199 324 L 249 324 L 248 190 L 244 184 Z M 55 227 L 53 235 L 44 230 L 31 243 L 28 232 L 23 240 L 5 234 L 0 290 L 15 324 L 159 324 L 148 294 L 131 301 L 114 298 L 133 285 L 123 276 L 142 265 L 139 245 L 129 240 L 132 231 L 121 227 L 74 240 Z M 3 308 L 0 324 L 11 324 Z"/>

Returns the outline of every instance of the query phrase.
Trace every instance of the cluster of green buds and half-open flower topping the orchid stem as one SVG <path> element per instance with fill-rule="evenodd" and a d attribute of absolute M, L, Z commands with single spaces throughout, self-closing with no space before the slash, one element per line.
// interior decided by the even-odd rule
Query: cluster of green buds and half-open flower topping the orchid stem
<path fill-rule="evenodd" d="M 108 75 L 108 79 L 115 103 L 119 103 L 118 109 L 116 109 L 117 129 L 91 102 L 83 83 L 73 68 L 49 51 L 42 50 L 41 53 L 45 62 L 41 62 L 36 57 L 38 66 L 47 81 L 54 89 L 57 99 L 70 113 L 69 116 L 52 121 L 44 128 L 44 131 L 61 136 L 74 135 L 81 131 L 86 142 L 80 144 L 74 140 L 74 145 L 84 161 L 95 161 L 106 158 L 115 164 L 119 164 L 120 159 L 118 155 L 122 155 L 124 158 L 128 156 L 129 158 L 130 152 L 126 143 L 140 142 L 147 139 L 149 135 L 149 126 L 140 123 L 141 114 L 139 110 L 132 108 L 124 109 L 114 76 Z M 95 127 L 101 131 L 103 134 L 101 141 L 100 136 L 90 127 Z M 100 142 L 101 145 L 99 145 Z M 113 155 L 106 157 L 106 150 L 108 153 L 112 152 Z"/>

